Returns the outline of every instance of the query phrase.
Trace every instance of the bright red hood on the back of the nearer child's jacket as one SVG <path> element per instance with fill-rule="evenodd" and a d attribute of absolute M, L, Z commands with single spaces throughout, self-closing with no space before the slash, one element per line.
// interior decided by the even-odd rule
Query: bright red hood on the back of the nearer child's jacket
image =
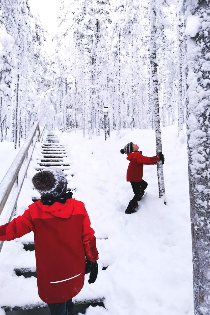
<path fill-rule="evenodd" d="M 43 205 L 41 200 L 37 201 L 38 208 L 50 212 L 58 218 L 68 219 L 74 209 L 74 199 L 67 199 L 65 203 L 54 202 L 51 206 Z"/>

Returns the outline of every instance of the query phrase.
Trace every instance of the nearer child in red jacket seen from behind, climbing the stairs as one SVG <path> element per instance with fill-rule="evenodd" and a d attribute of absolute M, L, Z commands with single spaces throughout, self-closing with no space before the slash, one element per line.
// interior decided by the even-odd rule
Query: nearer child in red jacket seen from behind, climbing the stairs
<path fill-rule="evenodd" d="M 90 272 L 89 283 L 97 278 L 94 230 L 84 203 L 71 199 L 72 192 L 66 193 L 62 170 L 45 168 L 32 182 L 41 200 L 0 226 L 0 241 L 34 232 L 39 297 L 48 304 L 51 315 L 67 315 L 72 310 L 72 297 L 83 287 L 85 272 Z"/>

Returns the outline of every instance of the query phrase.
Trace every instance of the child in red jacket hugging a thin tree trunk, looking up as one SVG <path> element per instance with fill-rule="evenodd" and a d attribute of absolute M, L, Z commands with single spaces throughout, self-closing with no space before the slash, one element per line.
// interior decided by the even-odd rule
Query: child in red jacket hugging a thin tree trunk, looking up
<path fill-rule="evenodd" d="M 144 164 L 156 164 L 157 161 L 162 161 L 164 163 L 164 156 L 162 152 L 154 157 L 145 157 L 142 155 L 137 144 L 129 142 L 123 149 L 120 150 L 122 154 L 127 154 L 127 160 L 130 161 L 127 170 L 127 181 L 131 183 L 133 188 L 134 197 L 130 200 L 126 214 L 131 214 L 136 212 L 135 209 L 138 207 L 138 201 L 144 196 L 145 189 L 147 187 L 147 182 L 142 179 L 143 176 L 143 165 Z"/>

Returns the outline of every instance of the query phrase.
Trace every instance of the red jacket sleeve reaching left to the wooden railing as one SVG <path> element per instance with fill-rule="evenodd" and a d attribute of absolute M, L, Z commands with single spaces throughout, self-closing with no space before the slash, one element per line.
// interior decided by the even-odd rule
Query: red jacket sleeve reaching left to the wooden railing
<path fill-rule="evenodd" d="M 11 222 L 0 226 L 0 241 L 11 241 L 34 230 L 30 211 L 26 210 Z"/>

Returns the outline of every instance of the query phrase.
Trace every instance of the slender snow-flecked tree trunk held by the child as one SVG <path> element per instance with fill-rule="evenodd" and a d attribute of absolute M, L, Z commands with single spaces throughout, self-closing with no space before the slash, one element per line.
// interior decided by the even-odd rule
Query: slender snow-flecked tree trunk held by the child
<path fill-rule="evenodd" d="M 157 154 L 162 152 L 161 128 L 160 128 L 160 114 L 158 101 L 158 78 L 157 78 L 157 63 L 156 63 L 156 1 L 150 0 L 150 64 L 151 64 L 151 88 L 152 88 L 152 105 L 154 116 L 154 129 L 156 137 Z M 157 162 L 157 178 L 159 187 L 159 197 L 165 195 L 165 185 L 163 177 L 162 162 Z"/>

